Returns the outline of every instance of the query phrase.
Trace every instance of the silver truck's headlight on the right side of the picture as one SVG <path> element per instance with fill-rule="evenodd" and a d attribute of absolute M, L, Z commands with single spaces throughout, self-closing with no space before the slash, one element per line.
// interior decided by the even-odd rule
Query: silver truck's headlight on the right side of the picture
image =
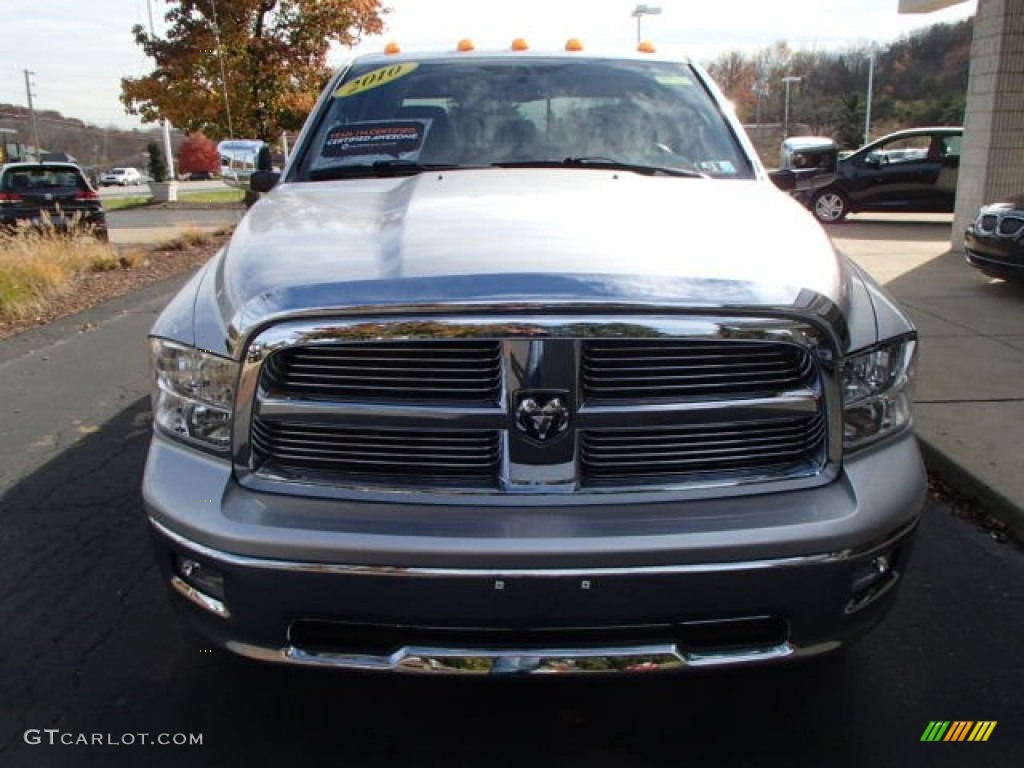
<path fill-rule="evenodd" d="M 904 337 L 843 362 L 843 444 L 847 451 L 910 424 L 918 342 Z"/>

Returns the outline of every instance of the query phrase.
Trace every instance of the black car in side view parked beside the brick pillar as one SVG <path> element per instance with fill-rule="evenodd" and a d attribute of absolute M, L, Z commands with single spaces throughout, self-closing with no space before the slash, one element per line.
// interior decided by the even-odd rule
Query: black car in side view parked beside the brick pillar
<path fill-rule="evenodd" d="M 850 213 L 951 213 L 963 128 L 891 133 L 839 161 L 836 181 L 807 206 L 823 223 Z"/>

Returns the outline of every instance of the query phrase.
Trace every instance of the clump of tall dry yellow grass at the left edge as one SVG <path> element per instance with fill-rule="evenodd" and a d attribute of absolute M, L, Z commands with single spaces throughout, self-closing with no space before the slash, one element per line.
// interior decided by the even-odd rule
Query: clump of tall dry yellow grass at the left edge
<path fill-rule="evenodd" d="M 0 319 L 20 319 L 67 294 L 82 272 L 121 268 L 106 243 L 88 233 L 52 231 L 0 236 Z"/>

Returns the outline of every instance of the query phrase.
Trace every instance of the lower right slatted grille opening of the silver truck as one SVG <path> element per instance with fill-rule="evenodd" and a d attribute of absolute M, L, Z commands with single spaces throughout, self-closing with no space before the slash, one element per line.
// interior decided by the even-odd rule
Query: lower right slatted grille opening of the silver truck
<path fill-rule="evenodd" d="M 754 423 L 666 429 L 588 430 L 581 439 L 584 478 L 595 481 L 780 473 L 823 460 L 821 414 Z"/>

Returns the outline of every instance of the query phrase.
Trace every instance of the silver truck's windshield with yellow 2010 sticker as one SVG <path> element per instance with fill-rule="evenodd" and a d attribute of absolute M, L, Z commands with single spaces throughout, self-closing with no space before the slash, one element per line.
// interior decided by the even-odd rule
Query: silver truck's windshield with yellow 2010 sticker
<path fill-rule="evenodd" d="M 335 86 L 299 180 L 376 167 L 623 164 L 751 178 L 721 112 L 681 63 L 446 58 L 356 65 Z"/>

